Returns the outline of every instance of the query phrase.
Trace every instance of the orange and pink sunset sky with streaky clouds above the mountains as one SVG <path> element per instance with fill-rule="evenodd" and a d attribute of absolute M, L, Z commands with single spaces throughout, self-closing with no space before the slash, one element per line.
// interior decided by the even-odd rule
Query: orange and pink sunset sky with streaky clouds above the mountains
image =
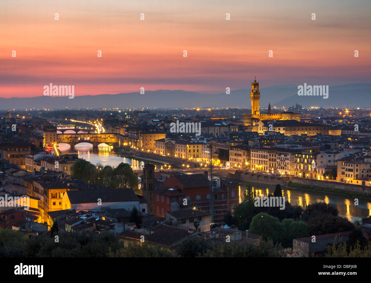
<path fill-rule="evenodd" d="M 370 15 L 369 0 L 1 0 L 0 97 L 370 83 Z"/>

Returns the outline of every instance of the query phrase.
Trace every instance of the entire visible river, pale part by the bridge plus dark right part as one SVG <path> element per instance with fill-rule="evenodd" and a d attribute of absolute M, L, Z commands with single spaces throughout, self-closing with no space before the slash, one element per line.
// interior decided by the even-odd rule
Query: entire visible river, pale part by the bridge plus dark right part
<path fill-rule="evenodd" d="M 118 154 L 112 153 L 111 147 L 99 147 L 98 149 L 93 149 L 91 144 L 78 144 L 75 147 L 75 150 L 71 150 L 69 145 L 62 143 L 58 149 L 62 154 L 78 153 L 79 158 L 83 158 L 92 164 L 101 163 L 103 166 L 117 166 L 121 162 L 124 162 L 133 165 L 133 169 L 138 169 L 140 166 L 138 160 L 120 157 Z M 248 182 L 241 183 L 241 196 L 243 196 L 243 192 L 247 189 L 249 184 L 254 187 L 255 196 L 267 196 L 268 193 L 273 193 L 275 190 L 275 186 L 273 185 Z M 354 197 L 341 196 L 332 193 L 312 192 L 301 189 L 289 189 L 286 187 L 282 187 L 282 189 L 284 191 L 285 199 L 293 205 L 299 204 L 300 206 L 305 206 L 306 204 L 316 202 L 333 204 L 339 210 L 339 215 L 347 217 L 349 221 L 371 215 L 371 200 L 368 199 L 358 198 L 359 204 L 358 206 L 355 206 Z"/>

